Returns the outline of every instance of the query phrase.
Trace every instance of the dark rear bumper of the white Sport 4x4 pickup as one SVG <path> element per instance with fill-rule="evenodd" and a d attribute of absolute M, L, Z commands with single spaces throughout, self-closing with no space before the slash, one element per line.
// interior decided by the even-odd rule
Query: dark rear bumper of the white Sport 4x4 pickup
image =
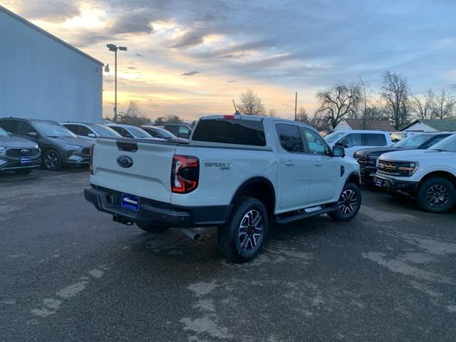
<path fill-rule="evenodd" d="M 144 222 L 170 227 L 210 227 L 227 223 L 232 205 L 180 207 L 140 197 L 139 210 L 120 206 L 121 193 L 105 188 L 88 187 L 84 197 L 100 212 L 113 214 L 115 221 Z"/>

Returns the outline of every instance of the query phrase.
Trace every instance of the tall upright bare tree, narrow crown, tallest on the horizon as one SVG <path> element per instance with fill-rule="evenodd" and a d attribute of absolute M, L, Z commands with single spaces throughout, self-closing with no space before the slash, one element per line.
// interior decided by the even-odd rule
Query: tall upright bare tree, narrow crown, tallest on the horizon
<path fill-rule="evenodd" d="M 396 130 L 400 130 L 408 123 L 409 101 L 408 101 L 407 79 L 399 73 L 385 71 L 383 73 L 382 93 L 385 100 L 385 109 L 388 118 Z"/>

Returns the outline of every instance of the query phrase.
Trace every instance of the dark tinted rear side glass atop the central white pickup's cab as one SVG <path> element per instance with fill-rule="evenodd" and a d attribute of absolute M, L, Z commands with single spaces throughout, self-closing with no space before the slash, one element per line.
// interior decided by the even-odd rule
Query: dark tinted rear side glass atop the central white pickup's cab
<path fill-rule="evenodd" d="M 199 120 L 192 140 L 224 144 L 266 146 L 262 120 Z"/>

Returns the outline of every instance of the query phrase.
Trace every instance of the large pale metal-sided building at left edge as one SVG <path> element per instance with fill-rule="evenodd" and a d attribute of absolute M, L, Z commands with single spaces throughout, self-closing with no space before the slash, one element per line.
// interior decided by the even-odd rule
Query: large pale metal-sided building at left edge
<path fill-rule="evenodd" d="M 0 118 L 101 123 L 102 68 L 0 6 Z"/>

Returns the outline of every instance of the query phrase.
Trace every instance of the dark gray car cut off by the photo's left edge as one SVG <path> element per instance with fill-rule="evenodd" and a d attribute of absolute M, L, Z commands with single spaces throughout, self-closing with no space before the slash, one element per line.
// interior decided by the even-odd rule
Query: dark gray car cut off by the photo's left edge
<path fill-rule="evenodd" d="M 36 142 L 14 137 L 0 128 L 0 172 L 14 171 L 26 175 L 40 165 L 40 149 Z"/>

